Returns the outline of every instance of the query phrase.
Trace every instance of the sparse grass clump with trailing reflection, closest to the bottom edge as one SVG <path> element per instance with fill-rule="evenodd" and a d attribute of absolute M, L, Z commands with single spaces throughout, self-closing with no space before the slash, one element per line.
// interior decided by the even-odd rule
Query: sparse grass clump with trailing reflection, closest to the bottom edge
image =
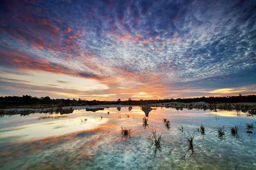
<path fill-rule="evenodd" d="M 186 137 L 185 137 L 185 141 L 186 141 L 186 152 L 183 150 L 183 154 L 182 157 L 180 158 L 180 160 L 182 160 L 184 163 L 186 162 L 186 156 L 187 154 L 190 153 L 189 158 L 191 156 L 196 156 L 195 154 L 195 150 L 194 150 L 194 133 L 190 134 L 187 133 Z"/>

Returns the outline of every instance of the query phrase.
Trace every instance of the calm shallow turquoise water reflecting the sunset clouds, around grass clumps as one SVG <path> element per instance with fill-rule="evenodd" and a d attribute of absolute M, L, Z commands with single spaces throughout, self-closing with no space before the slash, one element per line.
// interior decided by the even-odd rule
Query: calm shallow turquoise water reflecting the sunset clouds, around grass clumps
<path fill-rule="evenodd" d="M 187 109 L 177 113 L 172 108 L 155 108 L 149 113 L 146 128 L 142 122 L 145 113 L 140 107 L 131 111 L 128 107 L 120 111 L 80 109 L 60 119 L 38 119 L 48 115 L 0 118 L 0 169 L 256 169 L 256 130 L 248 135 L 245 127 L 245 123 L 256 119 L 244 114 Z M 164 127 L 164 118 L 171 122 L 169 130 Z M 200 123 L 205 125 L 204 137 L 197 132 Z M 218 127 L 224 125 L 229 135 L 229 127 L 237 124 L 241 125 L 242 142 L 233 136 L 227 136 L 225 142 L 218 139 Z M 186 150 L 185 138 L 177 129 L 180 125 L 184 131 L 195 134 L 196 157 L 187 158 L 186 163 L 180 160 Z M 130 138 L 121 138 L 121 126 L 131 129 Z M 162 158 L 158 155 L 158 159 L 153 159 L 152 150 L 147 147 L 152 127 L 162 133 Z"/>

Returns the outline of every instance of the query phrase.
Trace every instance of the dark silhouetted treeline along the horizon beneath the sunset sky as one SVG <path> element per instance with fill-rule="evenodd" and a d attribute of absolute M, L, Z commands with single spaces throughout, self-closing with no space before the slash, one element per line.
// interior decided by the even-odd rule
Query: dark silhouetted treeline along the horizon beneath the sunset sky
<path fill-rule="evenodd" d="M 153 103 L 166 103 L 166 102 L 206 102 L 206 103 L 240 103 L 240 102 L 256 102 L 256 95 L 242 96 L 223 96 L 223 97 L 197 97 L 197 98 L 178 98 L 178 99 L 160 99 L 160 100 L 132 100 L 128 99 L 121 101 L 98 101 L 98 100 L 85 100 L 85 99 L 51 99 L 50 97 L 32 97 L 24 96 L 1 96 L 0 107 L 5 106 L 20 106 L 20 105 L 144 105 Z"/>

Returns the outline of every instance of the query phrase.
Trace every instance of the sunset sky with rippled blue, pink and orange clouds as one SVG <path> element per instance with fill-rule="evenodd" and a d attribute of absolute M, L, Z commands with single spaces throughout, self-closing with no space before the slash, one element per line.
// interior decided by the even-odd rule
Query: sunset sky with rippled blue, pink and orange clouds
<path fill-rule="evenodd" d="M 0 96 L 256 94 L 255 0 L 1 0 Z"/>

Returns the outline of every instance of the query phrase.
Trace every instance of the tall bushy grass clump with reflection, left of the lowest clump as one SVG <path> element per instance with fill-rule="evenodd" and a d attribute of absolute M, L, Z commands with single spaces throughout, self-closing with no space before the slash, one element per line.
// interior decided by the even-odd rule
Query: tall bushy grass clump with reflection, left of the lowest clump
<path fill-rule="evenodd" d="M 157 133 L 156 129 L 153 127 L 151 129 L 152 136 L 148 136 L 148 148 L 153 150 L 153 159 L 157 159 L 157 153 L 162 157 L 162 134 Z"/>

